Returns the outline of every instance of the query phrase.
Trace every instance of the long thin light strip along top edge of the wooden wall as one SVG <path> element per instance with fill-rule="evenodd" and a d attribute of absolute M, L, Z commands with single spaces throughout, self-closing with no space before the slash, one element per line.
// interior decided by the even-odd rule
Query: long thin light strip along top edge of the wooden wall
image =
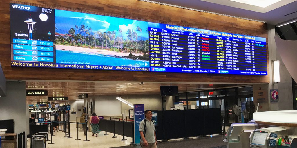
<path fill-rule="evenodd" d="M 189 7 L 182 7 L 182 6 L 178 6 L 178 5 L 166 4 L 166 3 L 161 3 L 161 2 L 157 2 L 157 1 L 151 1 L 151 0 L 138 0 L 138 1 L 145 1 L 145 2 L 154 3 L 154 4 L 166 5 L 166 6 L 188 9 L 188 10 L 193 10 L 193 11 L 198 11 L 198 12 L 211 13 L 211 14 L 215 14 L 215 15 L 222 15 L 222 16 L 226 16 L 226 17 L 233 17 L 233 18 L 238 18 L 238 19 L 243 19 L 243 20 L 251 20 L 251 21 L 263 22 L 263 23 L 266 22 L 266 21 L 261 21 L 261 20 L 248 19 L 248 18 L 244 18 L 244 17 L 236 17 L 233 15 L 225 15 L 225 14 L 216 13 L 216 12 L 204 11 L 204 10 L 194 9 L 194 8 L 189 8 Z"/>

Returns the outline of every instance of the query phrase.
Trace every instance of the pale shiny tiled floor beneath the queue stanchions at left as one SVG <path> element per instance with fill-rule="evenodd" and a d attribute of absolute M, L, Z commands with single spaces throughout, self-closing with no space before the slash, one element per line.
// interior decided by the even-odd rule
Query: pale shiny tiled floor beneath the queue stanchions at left
<path fill-rule="evenodd" d="M 63 131 L 54 132 L 53 142 L 55 144 L 48 144 L 50 141 L 47 141 L 47 148 L 108 148 L 108 147 L 120 147 L 120 146 L 127 146 L 132 142 L 132 138 L 125 137 L 127 141 L 121 141 L 123 136 L 116 135 L 117 138 L 111 138 L 113 133 L 108 133 L 109 135 L 104 136 L 105 132 L 100 132 L 98 137 L 91 136 L 91 132 L 88 132 L 88 139 L 90 141 L 83 141 L 86 139 L 86 136 L 83 136 L 83 130 L 78 130 L 78 136 L 81 140 L 74 140 L 77 139 L 77 128 L 75 128 L 75 124 L 70 124 L 70 137 L 71 139 L 63 138 L 65 133 Z M 67 135 L 68 136 L 68 135 Z M 50 139 L 50 137 L 49 137 Z M 27 141 L 27 147 L 30 148 L 30 140 Z"/>

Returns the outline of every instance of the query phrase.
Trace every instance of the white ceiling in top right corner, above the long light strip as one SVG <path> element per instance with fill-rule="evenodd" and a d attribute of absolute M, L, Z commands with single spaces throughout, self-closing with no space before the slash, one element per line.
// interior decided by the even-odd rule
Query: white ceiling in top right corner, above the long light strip
<path fill-rule="evenodd" d="M 182 7 L 200 9 L 204 11 L 216 12 L 236 17 L 266 21 L 268 24 L 277 25 L 281 22 L 297 18 L 296 0 L 271 0 L 267 7 L 250 5 L 248 0 L 152 0 L 165 4 L 172 4 Z M 244 4 L 241 2 L 246 2 Z M 259 2 L 267 0 L 258 0 Z M 258 3 L 259 3 L 258 2 Z M 260 4 L 260 3 L 259 3 Z M 268 5 L 268 3 L 267 3 Z M 296 12 L 296 13 L 293 13 Z M 290 14 L 292 13 L 292 14 Z M 287 15 L 290 14 L 290 15 Z M 287 15 L 287 16 L 285 16 Z"/>

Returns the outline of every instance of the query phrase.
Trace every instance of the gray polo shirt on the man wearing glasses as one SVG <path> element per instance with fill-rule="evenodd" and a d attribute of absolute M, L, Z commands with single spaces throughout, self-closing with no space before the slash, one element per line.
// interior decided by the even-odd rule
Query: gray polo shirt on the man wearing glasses
<path fill-rule="evenodd" d="M 144 133 L 143 130 L 144 130 L 144 120 L 141 120 L 139 124 L 139 131 L 142 131 Z M 149 120 L 146 119 L 146 135 L 144 137 L 146 138 L 146 141 L 148 141 L 148 143 L 156 142 L 154 131 L 156 131 L 156 127 L 153 121 L 150 122 Z M 143 140 L 141 139 L 141 141 Z"/>

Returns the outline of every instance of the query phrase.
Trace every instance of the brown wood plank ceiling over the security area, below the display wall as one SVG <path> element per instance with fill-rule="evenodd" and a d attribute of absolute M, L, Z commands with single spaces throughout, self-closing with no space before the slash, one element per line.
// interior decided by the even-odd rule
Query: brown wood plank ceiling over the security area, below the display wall
<path fill-rule="evenodd" d="M 78 95 L 160 95 L 160 86 L 170 83 L 117 83 L 117 82 L 26 82 L 26 90 L 47 90 L 48 96 L 26 96 L 27 104 L 47 102 L 51 96 L 66 96 L 69 100 L 78 100 Z M 178 92 L 196 91 L 237 86 L 237 84 L 193 84 L 172 83 L 178 86 Z"/>

